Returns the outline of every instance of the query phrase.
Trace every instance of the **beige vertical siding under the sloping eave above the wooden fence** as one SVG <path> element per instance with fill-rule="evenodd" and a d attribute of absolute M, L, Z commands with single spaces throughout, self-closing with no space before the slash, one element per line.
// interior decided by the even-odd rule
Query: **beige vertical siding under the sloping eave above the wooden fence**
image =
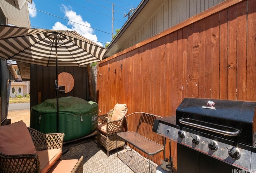
<path fill-rule="evenodd" d="M 223 1 L 225 0 L 167 0 L 121 50 L 155 36 Z"/>

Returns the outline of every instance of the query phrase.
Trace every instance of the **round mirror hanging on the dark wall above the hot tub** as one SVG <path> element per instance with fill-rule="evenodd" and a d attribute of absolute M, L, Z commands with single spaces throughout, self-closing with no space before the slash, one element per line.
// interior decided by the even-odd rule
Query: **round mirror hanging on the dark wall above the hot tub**
<path fill-rule="evenodd" d="M 74 77 L 67 72 L 58 74 L 58 85 L 60 92 L 68 93 L 74 88 Z"/>

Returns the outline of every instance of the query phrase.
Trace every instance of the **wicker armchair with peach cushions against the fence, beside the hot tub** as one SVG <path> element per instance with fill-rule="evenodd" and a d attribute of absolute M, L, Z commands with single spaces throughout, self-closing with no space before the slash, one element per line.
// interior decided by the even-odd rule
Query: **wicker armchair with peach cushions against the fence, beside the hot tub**
<path fill-rule="evenodd" d="M 117 138 L 116 133 L 123 131 L 123 121 L 127 111 L 126 104 L 116 104 L 110 112 L 97 117 L 98 147 L 102 145 L 106 148 L 107 156 L 109 151 L 116 149 L 116 146 L 124 146 L 124 140 Z"/>

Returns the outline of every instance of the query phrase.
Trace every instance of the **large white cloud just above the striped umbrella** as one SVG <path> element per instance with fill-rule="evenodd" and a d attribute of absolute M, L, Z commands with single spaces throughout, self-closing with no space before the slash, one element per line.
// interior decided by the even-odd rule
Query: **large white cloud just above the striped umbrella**
<path fill-rule="evenodd" d="M 103 46 L 98 42 L 98 38 L 91 27 L 91 24 L 84 21 L 81 15 L 76 14 L 75 11 L 70 10 L 70 7 L 62 5 L 62 10 L 65 13 L 65 17 L 72 22 L 68 22 L 68 26 L 62 24 L 61 22 L 56 22 L 52 29 L 54 30 L 75 30 L 85 38 L 92 40 L 96 44 Z M 75 23 L 74 23 L 75 22 Z M 78 24 L 79 23 L 79 24 Z"/>

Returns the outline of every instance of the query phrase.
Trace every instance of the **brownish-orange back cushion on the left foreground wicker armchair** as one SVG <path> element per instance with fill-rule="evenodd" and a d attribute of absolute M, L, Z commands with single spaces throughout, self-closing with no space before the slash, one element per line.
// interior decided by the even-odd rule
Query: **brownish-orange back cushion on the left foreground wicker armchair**
<path fill-rule="evenodd" d="M 6 155 L 36 153 L 27 125 L 23 121 L 0 127 L 0 152 Z"/>

